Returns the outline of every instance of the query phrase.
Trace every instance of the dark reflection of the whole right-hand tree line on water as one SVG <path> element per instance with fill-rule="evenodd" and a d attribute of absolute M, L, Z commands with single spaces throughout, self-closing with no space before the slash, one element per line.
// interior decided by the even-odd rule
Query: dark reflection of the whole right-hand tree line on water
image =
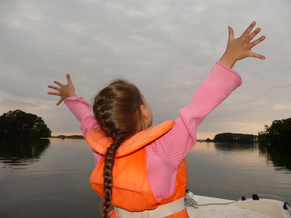
<path fill-rule="evenodd" d="M 277 171 L 291 174 L 291 147 L 282 145 L 263 145 L 259 143 L 243 144 L 243 143 L 214 143 L 214 147 L 221 153 L 232 152 L 253 152 L 259 151 L 259 155 L 265 157 L 266 163 L 274 166 Z"/>

